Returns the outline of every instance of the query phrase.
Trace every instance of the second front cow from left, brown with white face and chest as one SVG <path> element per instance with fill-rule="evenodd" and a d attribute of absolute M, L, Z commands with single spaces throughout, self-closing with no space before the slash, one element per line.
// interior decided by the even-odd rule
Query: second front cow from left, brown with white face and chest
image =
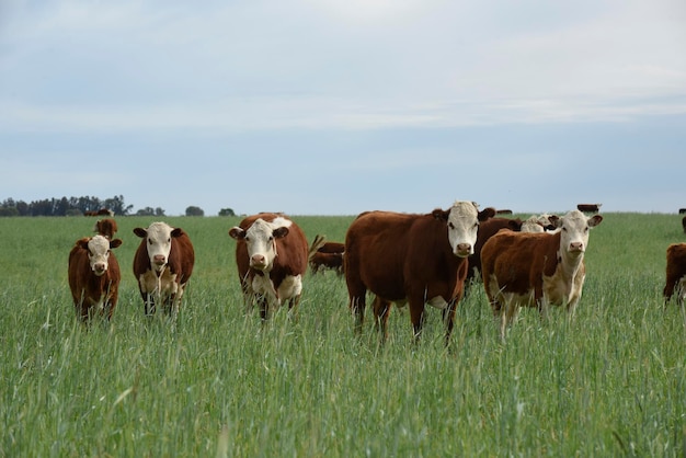
<path fill-rule="evenodd" d="M 142 240 L 134 255 L 134 275 L 142 297 L 146 316 L 153 316 L 162 305 L 175 317 L 186 284 L 193 274 L 195 251 L 188 234 L 167 222 L 152 222 L 147 229 L 135 228 Z"/>

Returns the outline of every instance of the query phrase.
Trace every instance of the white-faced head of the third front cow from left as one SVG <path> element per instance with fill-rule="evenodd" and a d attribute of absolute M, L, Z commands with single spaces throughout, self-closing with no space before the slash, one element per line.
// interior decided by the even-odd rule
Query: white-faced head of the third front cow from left
<path fill-rule="evenodd" d="M 268 272 L 278 255 L 276 239 L 286 237 L 289 227 L 290 220 L 286 218 L 275 218 L 272 222 L 258 218 L 247 230 L 238 226 L 231 228 L 229 236 L 236 240 L 245 241 L 252 268 Z"/>

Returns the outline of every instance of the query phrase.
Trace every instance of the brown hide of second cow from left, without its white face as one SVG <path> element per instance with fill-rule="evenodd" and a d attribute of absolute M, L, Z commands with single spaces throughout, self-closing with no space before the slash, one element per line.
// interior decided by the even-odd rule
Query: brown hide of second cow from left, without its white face
<path fill-rule="evenodd" d="M 148 239 L 145 237 L 145 232 L 140 232 L 139 229 L 140 228 L 134 229 L 134 232 L 138 237 L 141 237 L 141 234 L 144 236 L 138 244 L 138 249 L 136 249 L 136 254 L 134 255 L 134 276 L 136 277 L 138 290 L 145 302 L 145 312 L 146 314 L 151 314 L 155 312 L 155 306 L 152 309 L 149 309 L 147 302 L 149 298 L 147 297 L 147 293 L 142 290 L 139 284 L 139 278 L 148 271 L 155 272 L 155 268 L 150 265 L 147 245 Z M 174 228 L 171 234 L 171 250 L 167 260 L 164 273 L 175 275 L 174 282 L 179 285 L 179 290 L 182 291 L 193 274 L 193 266 L 195 265 L 195 251 L 188 234 L 183 229 Z M 172 296 L 167 298 L 167 301 L 163 304 L 168 313 L 174 311 L 172 310 L 174 300 L 175 297 Z"/>

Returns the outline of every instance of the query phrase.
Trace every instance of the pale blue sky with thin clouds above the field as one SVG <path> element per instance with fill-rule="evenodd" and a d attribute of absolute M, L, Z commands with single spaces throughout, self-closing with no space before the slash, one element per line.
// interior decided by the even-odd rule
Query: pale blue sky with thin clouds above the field
<path fill-rule="evenodd" d="M 686 2 L 0 0 L 0 202 L 686 207 Z"/>

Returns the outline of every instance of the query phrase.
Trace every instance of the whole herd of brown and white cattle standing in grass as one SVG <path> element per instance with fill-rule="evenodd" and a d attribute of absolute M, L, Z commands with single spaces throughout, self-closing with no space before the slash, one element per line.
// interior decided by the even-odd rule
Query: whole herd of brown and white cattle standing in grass
<path fill-rule="evenodd" d="M 335 270 L 345 276 L 355 328 L 363 327 L 367 293 L 381 339 L 387 337 L 391 304 L 409 306 L 415 339 L 425 306 L 443 310 L 445 343 L 450 340 L 457 305 L 480 277 L 501 339 L 522 307 L 536 307 L 541 318 L 550 306 L 573 314 L 581 298 L 584 252 L 590 230 L 603 221 L 598 206 L 564 216 L 539 215 L 523 221 L 479 210 L 458 201 L 430 214 L 366 211 L 348 227 L 344 242 L 317 236 L 309 244 L 304 231 L 283 214 L 261 213 L 229 230 L 236 240 L 236 264 L 247 306 L 256 302 L 262 320 L 281 305 L 295 312 L 302 278 Z M 588 214 L 591 214 L 588 216 Z M 686 217 L 685 217 L 686 227 Z M 121 270 L 113 249 L 116 221 L 95 224 L 93 237 L 77 240 L 69 254 L 69 286 L 77 314 L 87 323 L 94 314 L 111 319 L 118 297 Z M 146 316 L 160 306 L 174 317 L 193 273 L 195 254 L 188 234 L 165 222 L 135 228 L 141 240 L 133 272 Z M 665 302 L 686 297 L 686 243 L 667 249 Z"/>

